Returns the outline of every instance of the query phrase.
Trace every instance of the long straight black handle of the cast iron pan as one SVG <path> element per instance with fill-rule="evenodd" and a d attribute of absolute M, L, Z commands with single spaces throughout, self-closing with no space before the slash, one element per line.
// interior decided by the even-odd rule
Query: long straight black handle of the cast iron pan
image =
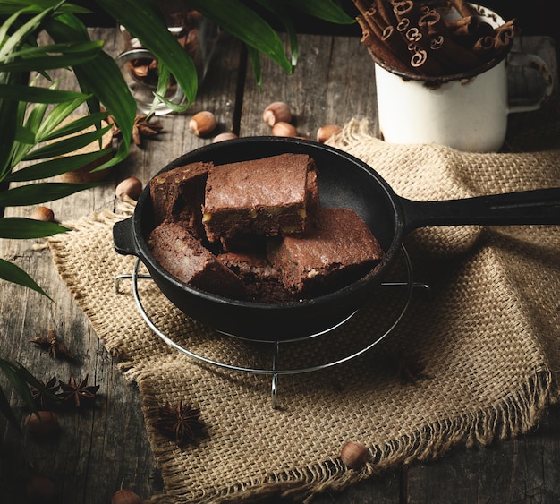
<path fill-rule="evenodd" d="M 401 200 L 405 232 L 423 226 L 560 224 L 560 187 L 461 200 Z"/>

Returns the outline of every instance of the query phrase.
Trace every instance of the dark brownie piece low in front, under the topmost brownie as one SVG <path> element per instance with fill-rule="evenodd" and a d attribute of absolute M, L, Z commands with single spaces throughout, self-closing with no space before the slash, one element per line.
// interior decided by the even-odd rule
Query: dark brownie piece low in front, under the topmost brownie
<path fill-rule="evenodd" d="M 251 301 L 281 303 L 293 301 L 293 295 L 284 287 L 265 255 L 257 253 L 225 252 L 217 256 L 242 280 Z"/>

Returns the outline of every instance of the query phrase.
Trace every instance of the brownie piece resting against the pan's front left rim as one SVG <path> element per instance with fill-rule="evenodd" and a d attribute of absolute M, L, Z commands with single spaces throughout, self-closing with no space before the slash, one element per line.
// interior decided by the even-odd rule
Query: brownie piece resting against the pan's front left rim
<path fill-rule="evenodd" d="M 165 221 L 149 234 L 148 247 L 154 259 L 182 282 L 216 295 L 246 298 L 241 279 L 218 261 L 189 229 Z"/>

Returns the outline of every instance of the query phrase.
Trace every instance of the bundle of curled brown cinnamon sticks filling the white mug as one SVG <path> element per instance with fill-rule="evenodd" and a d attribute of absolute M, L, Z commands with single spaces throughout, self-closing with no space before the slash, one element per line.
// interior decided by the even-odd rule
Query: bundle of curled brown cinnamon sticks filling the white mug
<path fill-rule="evenodd" d="M 362 43 L 376 61 L 400 71 L 448 75 L 475 68 L 511 47 L 514 20 L 494 29 L 466 0 L 448 0 L 462 16 L 444 21 L 441 0 L 353 0 Z M 433 7 L 433 8 L 432 8 Z"/>

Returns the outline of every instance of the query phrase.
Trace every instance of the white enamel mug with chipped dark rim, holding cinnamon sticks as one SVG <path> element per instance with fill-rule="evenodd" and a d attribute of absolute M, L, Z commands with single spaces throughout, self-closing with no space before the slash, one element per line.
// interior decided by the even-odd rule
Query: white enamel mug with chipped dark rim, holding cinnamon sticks
<path fill-rule="evenodd" d="M 471 4 L 482 21 L 494 27 L 504 21 L 486 7 Z M 507 73 L 530 67 L 541 75 L 541 96 L 508 99 Z M 553 90 L 550 68 L 539 56 L 510 52 L 479 73 L 444 77 L 405 74 L 376 63 L 378 121 L 390 143 L 437 143 L 471 152 L 496 152 L 505 141 L 507 116 L 542 107 Z"/>

